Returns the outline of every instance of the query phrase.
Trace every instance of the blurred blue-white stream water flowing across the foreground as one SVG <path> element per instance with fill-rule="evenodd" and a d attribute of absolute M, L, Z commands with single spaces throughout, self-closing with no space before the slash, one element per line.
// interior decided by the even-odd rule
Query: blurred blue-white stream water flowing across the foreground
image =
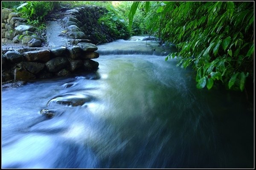
<path fill-rule="evenodd" d="M 157 42 L 98 49 L 95 73 L 2 89 L 2 168 L 254 167 L 244 93 L 197 89 Z"/>

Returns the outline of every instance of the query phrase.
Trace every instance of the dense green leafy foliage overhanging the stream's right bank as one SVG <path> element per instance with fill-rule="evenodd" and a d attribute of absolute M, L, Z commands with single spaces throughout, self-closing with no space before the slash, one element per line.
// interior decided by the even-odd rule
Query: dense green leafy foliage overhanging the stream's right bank
<path fill-rule="evenodd" d="M 143 6 L 150 34 L 160 43 L 172 42 L 177 51 L 167 59 L 177 65 L 192 65 L 197 71 L 197 87 L 211 89 L 215 82 L 229 89 L 244 90 L 246 77 L 253 78 L 254 4 L 253 2 L 134 2 Z"/>

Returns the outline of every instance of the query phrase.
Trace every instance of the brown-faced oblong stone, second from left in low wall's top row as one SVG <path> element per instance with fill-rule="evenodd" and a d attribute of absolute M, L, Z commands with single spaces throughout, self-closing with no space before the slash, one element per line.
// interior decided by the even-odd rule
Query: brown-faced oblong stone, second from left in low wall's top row
<path fill-rule="evenodd" d="M 27 61 L 43 61 L 47 62 L 50 59 L 50 51 L 48 49 L 28 51 L 23 53 Z"/>

